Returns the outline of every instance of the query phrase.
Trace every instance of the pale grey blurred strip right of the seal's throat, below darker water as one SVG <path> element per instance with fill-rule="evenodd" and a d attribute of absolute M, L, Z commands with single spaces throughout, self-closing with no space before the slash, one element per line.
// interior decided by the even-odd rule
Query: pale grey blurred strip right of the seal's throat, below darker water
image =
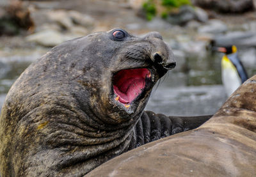
<path fill-rule="evenodd" d="M 200 116 L 214 114 L 225 100 L 225 91 L 221 85 L 161 86 L 151 96 L 146 110 L 169 116 Z"/>

